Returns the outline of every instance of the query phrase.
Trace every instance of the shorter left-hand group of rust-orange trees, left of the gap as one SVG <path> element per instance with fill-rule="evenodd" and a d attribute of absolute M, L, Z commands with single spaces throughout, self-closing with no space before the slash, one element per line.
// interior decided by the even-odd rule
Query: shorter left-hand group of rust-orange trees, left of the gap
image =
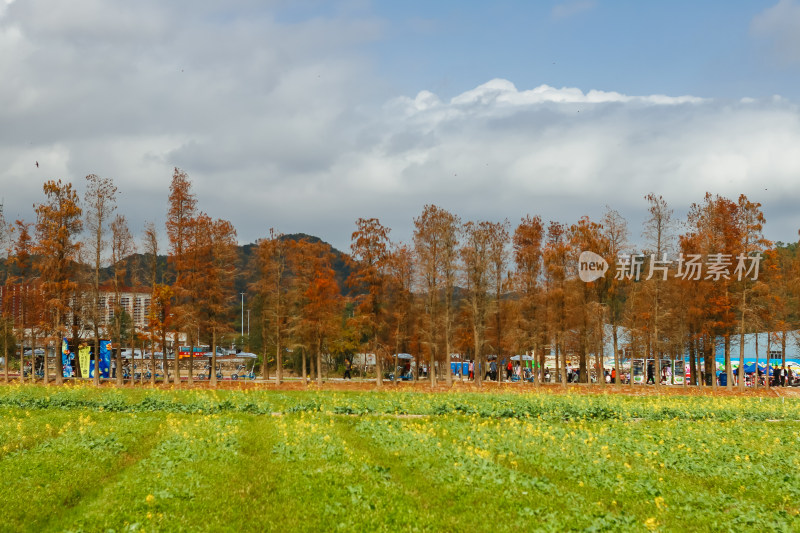
<path fill-rule="evenodd" d="M 60 347 L 69 337 L 73 346 L 85 343 L 99 353 L 101 337 L 110 337 L 116 347 L 117 368 L 122 368 L 122 345 L 160 348 L 163 368 L 168 369 L 167 336 L 183 334 L 192 346 L 207 334 L 214 344 L 219 331 L 229 329 L 231 292 L 236 275 L 238 245 L 236 231 L 225 220 L 214 220 L 197 210 L 197 199 L 186 173 L 175 169 L 170 184 L 166 222 L 169 276 L 159 268 L 159 236 L 153 223 L 143 230 L 144 271 L 139 283 L 151 294 L 147 327 L 137 332 L 123 307 L 121 293 L 131 289 L 126 280 L 129 259 L 136 245 L 126 218 L 116 213 L 118 189 L 109 178 L 86 177 L 81 201 L 72 183 L 47 181 L 45 199 L 34 205 L 36 222 L 16 220 L 7 224 L 0 217 L 0 236 L 6 251 L 4 298 L 2 301 L 4 375 L 8 376 L 9 347 Z M 101 285 L 101 267 L 111 265 L 108 284 Z M 164 279 L 170 279 L 165 283 Z M 111 306 L 107 320 L 106 305 Z M 85 331 L 91 331 L 86 338 Z M 9 333 L 10 332 L 10 333 Z M 22 350 L 20 350 L 22 353 Z M 96 355 L 95 355 L 96 357 Z M 179 359 L 173 362 L 178 382 Z M 20 367 L 22 367 L 20 361 Z M 155 363 L 155 361 L 153 361 Z M 97 365 L 96 365 L 97 366 Z M 61 383 L 61 357 L 55 357 L 56 383 Z M 155 365 L 153 365 L 155 367 Z M 43 366 L 45 381 L 48 365 Z M 189 365 L 189 380 L 192 367 Z M 122 383 L 123 374 L 116 379 Z M 151 373 L 155 380 L 155 372 Z M 169 379 L 167 376 L 165 379 Z M 216 376 L 212 376 L 216 380 Z M 99 383 L 99 373 L 94 380 Z"/>

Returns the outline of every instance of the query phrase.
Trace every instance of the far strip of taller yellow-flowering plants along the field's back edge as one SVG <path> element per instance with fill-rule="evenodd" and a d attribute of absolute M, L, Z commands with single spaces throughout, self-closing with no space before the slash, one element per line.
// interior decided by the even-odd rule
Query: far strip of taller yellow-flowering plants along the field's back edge
<path fill-rule="evenodd" d="M 303 392 L 119 390 L 91 387 L 0 388 L 0 407 L 119 413 L 323 412 L 364 415 L 476 415 L 543 420 L 800 420 L 800 401 L 712 396 L 627 397 L 578 394 L 422 394 L 413 392 Z"/>

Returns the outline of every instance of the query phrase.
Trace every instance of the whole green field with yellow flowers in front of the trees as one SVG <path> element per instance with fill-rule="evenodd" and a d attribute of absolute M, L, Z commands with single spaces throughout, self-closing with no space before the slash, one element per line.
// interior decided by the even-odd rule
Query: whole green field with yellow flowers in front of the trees
<path fill-rule="evenodd" d="M 4 531 L 800 531 L 781 398 L 0 387 Z"/>

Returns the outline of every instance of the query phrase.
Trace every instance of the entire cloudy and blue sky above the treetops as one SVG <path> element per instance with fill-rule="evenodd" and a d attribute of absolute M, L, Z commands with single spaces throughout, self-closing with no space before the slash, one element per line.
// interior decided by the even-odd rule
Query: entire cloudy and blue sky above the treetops
<path fill-rule="evenodd" d="M 426 204 L 611 208 L 637 242 L 648 193 L 678 220 L 745 194 L 768 238 L 800 229 L 800 0 L 0 0 L 0 102 L 11 221 L 97 174 L 165 241 L 179 167 L 242 244 L 347 250 L 372 217 L 409 242 Z"/>

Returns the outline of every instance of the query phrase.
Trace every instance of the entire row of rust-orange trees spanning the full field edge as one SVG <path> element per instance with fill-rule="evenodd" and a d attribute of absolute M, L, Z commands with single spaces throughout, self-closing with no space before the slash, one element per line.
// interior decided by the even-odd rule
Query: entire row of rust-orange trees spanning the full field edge
<path fill-rule="evenodd" d="M 95 346 L 101 331 L 111 332 L 117 346 L 129 342 L 123 338 L 122 310 L 106 324 L 97 302 L 101 264 L 108 259 L 119 305 L 133 237 L 124 216 L 115 215 L 113 182 L 86 180 L 82 203 L 71 184 L 45 183 L 45 201 L 34 206 L 33 234 L 33 225 L 19 220 L 3 231 L 6 286 L 34 288 L 22 292 L 22 312 L 14 316 L 4 299 L 4 331 L 58 339 L 72 328 L 78 338 L 82 324 L 92 330 Z M 152 293 L 145 338 L 164 354 L 170 333 L 182 333 L 192 346 L 216 346 L 235 322 L 238 276 L 247 280 L 248 300 L 254 302 L 251 341 L 262 359 L 261 372 L 269 377 L 274 369 L 278 381 L 290 354 L 300 359 L 304 379 L 310 369 L 319 381 L 323 361 L 330 368 L 356 353 L 375 354 L 379 385 L 385 367 L 395 369 L 402 352 L 427 362 L 432 384 L 442 378 L 450 383 L 449 371 L 436 372 L 449 370 L 453 353 L 475 360 L 484 372 L 488 356 L 528 354 L 539 369 L 554 364 L 562 382 L 568 362 L 577 362 L 586 381 L 589 371 L 602 368 L 601 360 L 612 355 L 618 377 L 622 355 L 653 358 L 656 364 L 662 357 L 688 355 L 692 380 L 699 382 L 701 368 L 713 368 L 718 343 L 730 374 L 731 346 L 743 344 L 751 332 L 771 332 L 764 353 L 774 343 L 785 354 L 797 323 L 798 257 L 796 246 L 775 247 L 764 239 L 760 205 L 744 196 L 708 194 L 679 221 L 663 198 L 651 194 L 645 201 L 649 217 L 640 247 L 630 243 L 624 218 L 609 208 L 597 221 L 583 217 L 568 225 L 526 216 L 512 227 L 508 221 L 464 222 L 428 205 L 414 218 L 410 243 L 392 242 L 390 229 L 377 219 L 358 219 L 349 275 L 340 281 L 333 266 L 337 252 L 329 245 L 274 230 L 258 241 L 250 264 L 239 264 L 233 226 L 199 211 L 191 181 L 175 169 L 165 228 L 166 277 L 159 272 L 153 224 L 146 225 L 142 239 L 148 263 L 140 275 Z M 603 256 L 612 265 L 609 272 L 580 281 L 582 251 Z M 616 275 L 614 265 L 626 254 L 642 256 L 638 280 Z M 681 254 L 762 254 L 763 259 L 757 279 L 696 280 L 679 275 L 680 262 L 666 260 Z M 613 354 L 604 353 L 608 345 Z M 120 367 L 119 352 L 116 356 Z M 176 358 L 173 378 L 178 363 Z M 57 381 L 60 365 L 56 358 Z M 190 380 L 191 372 L 190 366 Z M 484 372 L 476 371 L 478 383 Z"/>

